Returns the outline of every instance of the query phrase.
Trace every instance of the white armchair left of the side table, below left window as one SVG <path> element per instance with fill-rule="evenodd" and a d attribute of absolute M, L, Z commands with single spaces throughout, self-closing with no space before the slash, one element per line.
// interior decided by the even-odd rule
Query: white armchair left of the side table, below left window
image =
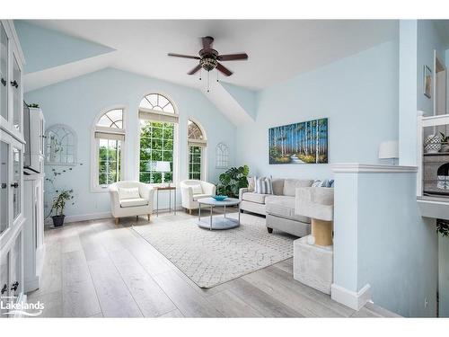
<path fill-rule="evenodd" d="M 120 193 L 120 189 L 121 193 Z M 138 193 L 137 193 L 138 189 Z M 153 188 L 143 182 L 114 182 L 110 184 L 110 211 L 119 223 L 120 217 L 146 215 L 148 221 L 153 214 Z"/>

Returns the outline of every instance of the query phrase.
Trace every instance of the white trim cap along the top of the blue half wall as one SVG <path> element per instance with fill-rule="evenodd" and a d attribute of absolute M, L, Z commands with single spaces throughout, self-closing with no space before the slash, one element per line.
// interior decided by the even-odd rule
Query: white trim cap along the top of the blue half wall
<path fill-rule="evenodd" d="M 333 173 L 416 173 L 417 166 L 339 163 L 332 165 Z"/>

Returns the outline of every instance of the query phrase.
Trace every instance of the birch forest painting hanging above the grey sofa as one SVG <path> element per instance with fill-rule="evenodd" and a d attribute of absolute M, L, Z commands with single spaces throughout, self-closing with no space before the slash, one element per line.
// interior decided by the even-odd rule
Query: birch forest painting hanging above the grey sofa
<path fill-rule="evenodd" d="M 269 129 L 269 164 L 328 163 L 328 119 Z"/>

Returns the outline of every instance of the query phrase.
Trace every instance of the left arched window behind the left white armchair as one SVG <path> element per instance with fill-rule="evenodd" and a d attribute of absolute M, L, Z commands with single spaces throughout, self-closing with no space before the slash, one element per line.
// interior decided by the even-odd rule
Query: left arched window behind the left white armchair
<path fill-rule="evenodd" d="M 93 128 L 92 188 L 104 191 L 123 179 L 125 128 L 123 109 L 101 114 Z"/>

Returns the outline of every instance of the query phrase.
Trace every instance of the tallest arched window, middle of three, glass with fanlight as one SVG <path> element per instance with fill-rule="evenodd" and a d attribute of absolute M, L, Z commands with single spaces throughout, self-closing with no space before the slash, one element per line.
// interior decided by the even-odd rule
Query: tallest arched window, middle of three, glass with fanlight
<path fill-rule="evenodd" d="M 173 182 L 176 129 L 178 115 L 169 99 L 159 93 L 144 97 L 139 107 L 140 162 L 139 181 L 162 182 L 162 174 L 156 171 L 156 163 L 169 162 L 171 171 L 164 173 L 165 182 Z"/>

